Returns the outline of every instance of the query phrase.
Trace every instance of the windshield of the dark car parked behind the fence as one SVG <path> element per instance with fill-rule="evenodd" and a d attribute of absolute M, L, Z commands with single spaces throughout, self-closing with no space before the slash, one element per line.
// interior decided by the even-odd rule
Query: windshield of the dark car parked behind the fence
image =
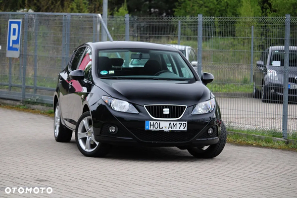
<path fill-rule="evenodd" d="M 285 64 L 285 51 L 284 50 L 274 50 L 271 53 L 270 65 L 272 66 L 284 66 Z M 297 66 L 297 50 L 290 50 L 289 53 L 289 66 Z"/>

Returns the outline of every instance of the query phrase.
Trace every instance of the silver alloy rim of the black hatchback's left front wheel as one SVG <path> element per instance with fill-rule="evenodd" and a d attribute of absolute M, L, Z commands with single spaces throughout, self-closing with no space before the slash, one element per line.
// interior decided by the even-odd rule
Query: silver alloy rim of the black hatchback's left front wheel
<path fill-rule="evenodd" d="M 80 147 L 86 152 L 94 151 L 99 142 L 95 140 L 91 116 L 85 117 L 80 123 L 77 131 Z"/>

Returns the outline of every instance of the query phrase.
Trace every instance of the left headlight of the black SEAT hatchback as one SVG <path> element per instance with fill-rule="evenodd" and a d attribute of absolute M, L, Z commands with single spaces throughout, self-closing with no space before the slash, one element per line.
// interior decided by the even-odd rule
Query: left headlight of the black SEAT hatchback
<path fill-rule="evenodd" d="M 102 96 L 103 101 L 113 110 L 126 113 L 139 113 L 136 108 L 125 100 L 114 99 L 107 96 Z"/>

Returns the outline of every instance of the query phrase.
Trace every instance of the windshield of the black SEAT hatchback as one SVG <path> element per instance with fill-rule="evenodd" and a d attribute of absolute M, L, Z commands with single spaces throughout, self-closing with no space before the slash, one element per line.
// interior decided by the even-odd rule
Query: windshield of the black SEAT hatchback
<path fill-rule="evenodd" d="M 151 49 L 98 51 L 99 78 L 194 80 L 194 74 L 178 52 Z"/>

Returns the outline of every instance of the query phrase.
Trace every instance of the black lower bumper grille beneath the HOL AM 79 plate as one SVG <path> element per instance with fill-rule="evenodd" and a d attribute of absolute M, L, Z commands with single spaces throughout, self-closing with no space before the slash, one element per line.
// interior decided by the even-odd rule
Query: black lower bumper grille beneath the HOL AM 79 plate
<path fill-rule="evenodd" d="M 189 142 L 198 133 L 198 130 L 181 132 L 146 131 L 141 128 L 129 128 L 138 139 L 145 142 Z"/>

